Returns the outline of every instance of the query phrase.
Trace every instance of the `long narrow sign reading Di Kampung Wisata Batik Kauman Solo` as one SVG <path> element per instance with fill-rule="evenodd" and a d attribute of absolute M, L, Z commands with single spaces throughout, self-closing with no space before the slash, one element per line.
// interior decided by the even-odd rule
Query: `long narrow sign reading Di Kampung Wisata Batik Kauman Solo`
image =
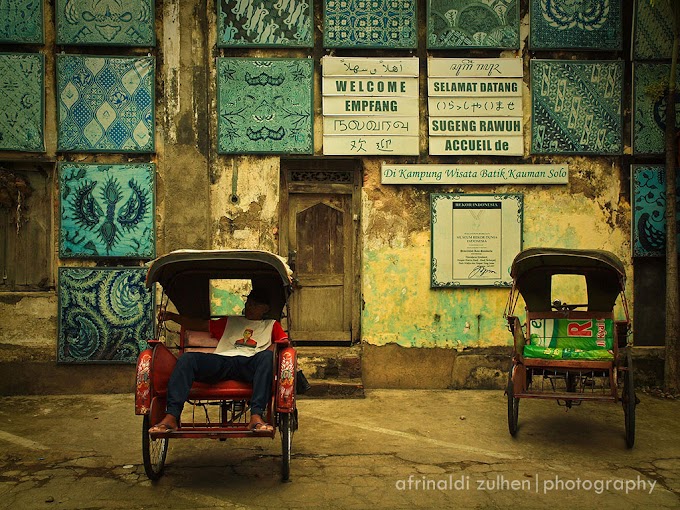
<path fill-rule="evenodd" d="M 568 184 L 569 165 L 382 165 L 382 184 Z"/>

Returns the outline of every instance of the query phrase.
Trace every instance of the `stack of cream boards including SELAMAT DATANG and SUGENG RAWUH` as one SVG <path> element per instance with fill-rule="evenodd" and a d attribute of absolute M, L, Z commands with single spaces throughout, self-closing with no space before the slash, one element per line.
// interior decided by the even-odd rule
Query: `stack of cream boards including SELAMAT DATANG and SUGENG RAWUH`
<path fill-rule="evenodd" d="M 432 155 L 524 154 L 521 59 L 428 59 Z"/>

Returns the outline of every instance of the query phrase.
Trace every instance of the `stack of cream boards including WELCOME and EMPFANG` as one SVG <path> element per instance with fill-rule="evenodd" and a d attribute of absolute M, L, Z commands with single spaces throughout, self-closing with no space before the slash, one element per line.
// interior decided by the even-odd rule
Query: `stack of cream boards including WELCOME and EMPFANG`
<path fill-rule="evenodd" d="M 323 57 L 323 153 L 417 155 L 418 58 Z"/>

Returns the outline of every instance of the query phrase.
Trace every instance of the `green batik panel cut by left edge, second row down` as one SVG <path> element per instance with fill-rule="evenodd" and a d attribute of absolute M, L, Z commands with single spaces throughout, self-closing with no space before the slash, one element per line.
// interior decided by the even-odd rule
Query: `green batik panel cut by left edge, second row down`
<path fill-rule="evenodd" d="M 0 53 L 0 150 L 44 152 L 45 58 Z"/>

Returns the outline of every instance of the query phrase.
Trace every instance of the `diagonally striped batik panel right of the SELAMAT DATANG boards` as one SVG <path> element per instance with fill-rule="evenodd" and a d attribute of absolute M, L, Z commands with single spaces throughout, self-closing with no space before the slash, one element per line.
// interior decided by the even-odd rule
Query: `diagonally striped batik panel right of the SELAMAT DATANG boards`
<path fill-rule="evenodd" d="M 531 61 L 533 154 L 620 154 L 622 61 Z"/>

